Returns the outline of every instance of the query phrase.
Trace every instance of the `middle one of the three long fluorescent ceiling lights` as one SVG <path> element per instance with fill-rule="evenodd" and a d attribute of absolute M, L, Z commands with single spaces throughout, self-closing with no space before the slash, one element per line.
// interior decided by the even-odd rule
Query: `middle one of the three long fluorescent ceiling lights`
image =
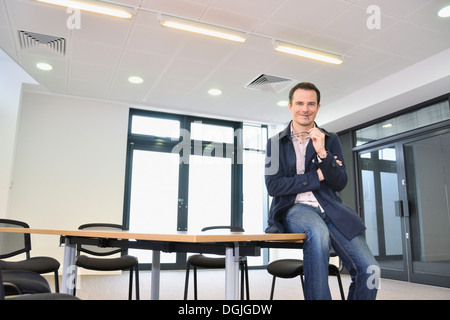
<path fill-rule="evenodd" d="M 180 18 L 163 16 L 161 18 L 161 25 L 236 42 L 245 42 L 247 40 L 244 37 L 244 33 Z"/>

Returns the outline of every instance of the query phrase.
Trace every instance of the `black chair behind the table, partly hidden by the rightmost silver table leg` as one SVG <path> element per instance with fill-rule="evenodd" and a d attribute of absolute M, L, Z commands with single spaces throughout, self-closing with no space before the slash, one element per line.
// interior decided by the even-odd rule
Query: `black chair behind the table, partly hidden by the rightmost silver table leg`
<path fill-rule="evenodd" d="M 205 227 L 203 231 L 215 230 L 215 229 L 229 229 L 231 232 L 244 232 L 244 229 L 237 226 L 211 226 Z M 190 267 L 194 270 L 194 299 L 197 300 L 197 268 L 208 268 L 208 269 L 224 269 L 225 268 L 225 257 L 213 258 L 207 257 L 203 254 L 195 254 L 188 258 L 186 263 L 186 279 L 184 285 L 184 300 L 187 300 L 188 286 L 189 286 L 189 271 Z M 244 300 L 244 281 L 246 287 L 247 300 L 250 299 L 250 289 L 248 283 L 248 265 L 247 258 L 239 258 L 239 267 L 241 269 L 241 300 Z"/>

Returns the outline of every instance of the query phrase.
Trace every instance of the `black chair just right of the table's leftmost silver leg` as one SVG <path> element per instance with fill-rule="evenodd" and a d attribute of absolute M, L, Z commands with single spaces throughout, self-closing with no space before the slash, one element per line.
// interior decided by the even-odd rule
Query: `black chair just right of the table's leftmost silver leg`
<path fill-rule="evenodd" d="M 89 223 L 81 225 L 79 230 L 104 230 L 104 231 L 117 231 L 124 230 L 123 226 L 110 223 Z M 117 271 L 117 270 L 130 270 L 130 282 L 128 289 L 128 299 L 132 298 L 133 291 L 133 271 L 136 275 L 136 300 L 139 300 L 139 262 L 134 256 L 125 254 L 127 249 L 124 248 L 102 248 L 95 245 L 78 245 L 77 257 L 75 264 L 78 267 L 96 270 L 96 271 Z M 94 256 L 109 256 L 116 253 L 121 253 L 119 258 L 94 258 L 81 253 L 87 253 Z M 75 290 L 74 290 L 75 295 Z"/>

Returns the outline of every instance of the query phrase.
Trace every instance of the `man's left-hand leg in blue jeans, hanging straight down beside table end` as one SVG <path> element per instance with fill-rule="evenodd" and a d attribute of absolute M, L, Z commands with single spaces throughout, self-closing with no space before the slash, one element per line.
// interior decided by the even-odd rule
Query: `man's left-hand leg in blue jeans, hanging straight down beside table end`
<path fill-rule="evenodd" d="M 305 233 L 303 244 L 303 270 L 305 299 L 330 300 L 328 264 L 330 236 L 319 208 L 297 203 L 282 218 L 286 232 Z"/>

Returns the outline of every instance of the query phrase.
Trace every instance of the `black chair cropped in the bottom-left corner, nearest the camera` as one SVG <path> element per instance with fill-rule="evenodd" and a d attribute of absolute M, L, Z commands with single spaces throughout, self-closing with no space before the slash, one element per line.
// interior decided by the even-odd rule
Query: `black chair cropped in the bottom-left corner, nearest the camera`
<path fill-rule="evenodd" d="M 0 262 L 0 300 L 79 300 L 60 293 L 50 293 L 47 280 L 27 270 L 2 270 Z"/>

